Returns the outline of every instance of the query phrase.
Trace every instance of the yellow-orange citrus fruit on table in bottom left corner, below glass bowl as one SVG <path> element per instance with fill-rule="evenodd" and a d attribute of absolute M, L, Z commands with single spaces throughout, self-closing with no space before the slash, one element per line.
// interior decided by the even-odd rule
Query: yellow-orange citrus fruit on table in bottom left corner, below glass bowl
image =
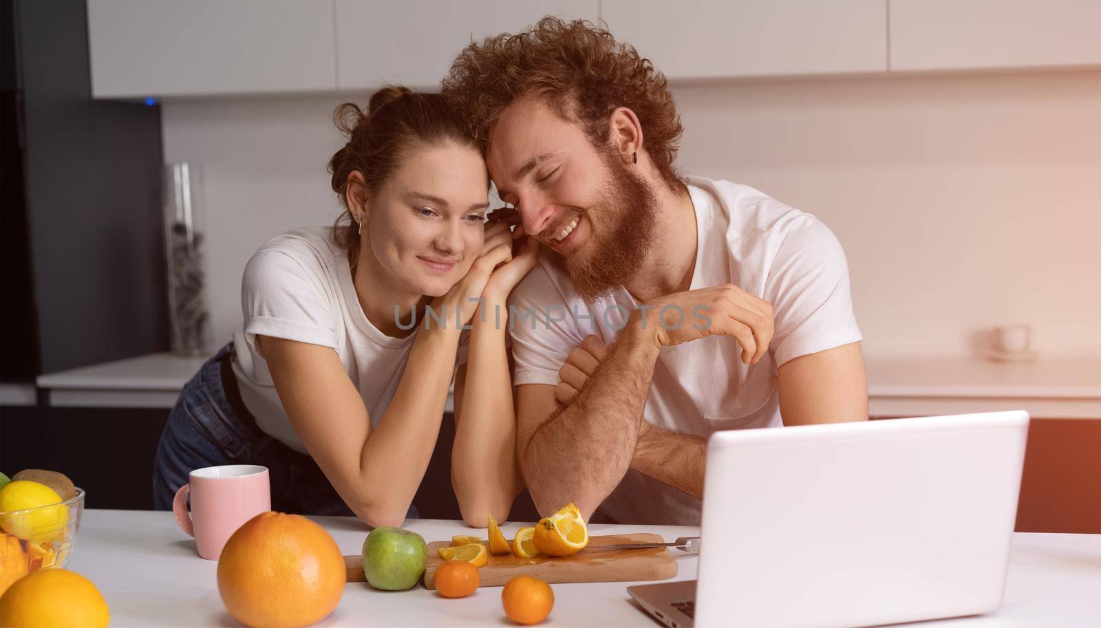
<path fill-rule="evenodd" d="M 107 602 L 96 585 L 64 569 L 24 575 L 0 596 L 0 626 L 98 628 L 107 626 L 110 618 Z"/>

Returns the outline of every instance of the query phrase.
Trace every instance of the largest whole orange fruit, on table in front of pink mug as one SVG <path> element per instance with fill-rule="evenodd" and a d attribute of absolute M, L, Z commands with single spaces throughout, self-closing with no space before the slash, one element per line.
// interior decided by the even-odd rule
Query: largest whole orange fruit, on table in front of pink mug
<path fill-rule="evenodd" d="M 226 541 L 218 593 L 248 626 L 308 626 L 340 602 L 345 563 L 333 537 L 298 515 L 261 513 Z"/>

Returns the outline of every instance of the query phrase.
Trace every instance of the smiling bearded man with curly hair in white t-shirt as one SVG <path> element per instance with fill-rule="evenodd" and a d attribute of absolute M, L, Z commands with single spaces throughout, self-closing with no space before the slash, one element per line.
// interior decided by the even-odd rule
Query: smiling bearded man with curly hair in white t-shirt
<path fill-rule="evenodd" d="M 673 97 L 632 46 L 545 18 L 466 47 L 443 91 L 543 244 L 510 298 L 541 514 L 698 525 L 712 431 L 868 418 L 838 240 L 749 186 L 682 176 Z"/>

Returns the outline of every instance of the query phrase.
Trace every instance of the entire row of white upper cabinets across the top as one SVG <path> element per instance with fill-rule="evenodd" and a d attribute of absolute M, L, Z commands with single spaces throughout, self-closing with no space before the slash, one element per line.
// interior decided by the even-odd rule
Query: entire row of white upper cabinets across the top
<path fill-rule="evenodd" d="M 603 19 L 668 78 L 1101 65 L 1101 0 L 87 0 L 95 98 L 436 89 L 471 40 Z"/>

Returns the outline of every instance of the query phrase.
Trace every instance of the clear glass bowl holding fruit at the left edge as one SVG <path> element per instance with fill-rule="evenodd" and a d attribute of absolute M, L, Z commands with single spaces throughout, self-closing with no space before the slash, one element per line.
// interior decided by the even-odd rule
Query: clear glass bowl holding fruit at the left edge
<path fill-rule="evenodd" d="M 0 594 L 40 569 L 68 564 L 84 514 L 84 489 L 59 504 L 0 513 Z"/>

